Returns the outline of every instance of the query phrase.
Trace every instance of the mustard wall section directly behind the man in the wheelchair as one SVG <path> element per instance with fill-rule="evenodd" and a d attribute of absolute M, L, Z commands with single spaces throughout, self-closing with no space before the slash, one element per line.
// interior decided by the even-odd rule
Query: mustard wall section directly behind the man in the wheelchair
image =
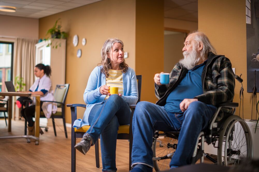
<path fill-rule="evenodd" d="M 245 7 L 245 0 L 199 0 L 198 28 L 205 32 L 218 54 L 231 60 L 235 73 L 243 74 L 244 118 L 250 119 L 252 94 L 247 93 Z M 236 81 L 234 102 L 240 102 L 240 87 L 241 84 Z M 239 108 L 236 109 L 236 114 L 239 114 Z M 253 115 L 255 119 L 255 113 Z"/>

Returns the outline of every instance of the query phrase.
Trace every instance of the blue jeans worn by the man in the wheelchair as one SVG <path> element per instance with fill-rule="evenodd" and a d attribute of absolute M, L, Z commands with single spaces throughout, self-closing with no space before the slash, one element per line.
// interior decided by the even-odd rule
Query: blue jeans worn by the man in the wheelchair
<path fill-rule="evenodd" d="M 182 114 L 168 114 L 164 107 L 150 102 L 139 102 L 132 121 L 132 166 L 138 163 L 153 167 L 151 149 L 156 130 L 179 131 L 177 149 L 170 168 L 191 163 L 200 132 L 208 125 L 217 108 L 199 101 L 192 102 Z"/>

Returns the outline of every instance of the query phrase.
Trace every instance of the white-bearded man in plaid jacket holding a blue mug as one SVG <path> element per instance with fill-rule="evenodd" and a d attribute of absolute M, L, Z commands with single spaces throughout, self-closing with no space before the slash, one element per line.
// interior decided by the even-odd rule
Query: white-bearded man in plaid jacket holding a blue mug
<path fill-rule="evenodd" d="M 188 35 L 183 56 L 172 69 L 169 84 L 162 85 L 160 73 L 155 74 L 155 94 L 159 99 L 156 104 L 142 101 L 136 105 L 132 172 L 152 171 L 151 146 L 156 130 L 180 131 L 170 168 L 190 164 L 198 135 L 207 127 L 217 104 L 233 101 L 235 80 L 231 62 L 224 55 L 216 55 L 204 33 Z"/>

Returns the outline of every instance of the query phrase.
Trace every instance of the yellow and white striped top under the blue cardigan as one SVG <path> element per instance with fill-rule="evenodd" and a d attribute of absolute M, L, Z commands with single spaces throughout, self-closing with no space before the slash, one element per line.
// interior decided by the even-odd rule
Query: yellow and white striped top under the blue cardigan
<path fill-rule="evenodd" d="M 123 78 L 121 70 L 109 70 L 109 77 L 106 78 L 106 85 L 109 87 L 119 87 L 118 93 L 123 95 Z M 104 100 L 108 99 L 107 95 Z"/>

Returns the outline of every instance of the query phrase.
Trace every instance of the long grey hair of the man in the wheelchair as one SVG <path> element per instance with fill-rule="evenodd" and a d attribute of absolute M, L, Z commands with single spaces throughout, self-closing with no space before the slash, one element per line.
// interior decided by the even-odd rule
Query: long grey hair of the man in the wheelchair
<path fill-rule="evenodd" d="M 216 49 L 212 46 L 210 40 L 208 39 L 208 37 L 203 32 L 194 31 L 190 34 L 194 34 L 194 33 L 195 33 L 195 36 L 193 37 L 193 40 L 195 40 L 198 45 L 199 45 L 199 42 L 203 43 L 203 49 L 200 52 L 200 56 L 203 59 L 206 55 L 208 55 L 209 52 L 217 54 Z"/>

